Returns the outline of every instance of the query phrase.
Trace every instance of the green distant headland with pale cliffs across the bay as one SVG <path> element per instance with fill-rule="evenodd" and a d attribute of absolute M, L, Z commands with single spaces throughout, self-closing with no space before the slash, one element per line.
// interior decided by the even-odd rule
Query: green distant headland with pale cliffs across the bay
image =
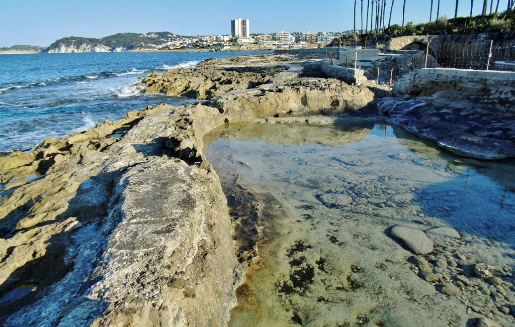
<path fill-rule="evenodd" d="M 127 50 L 147 50 L 173 42 L 178 35 L 170 32 L 117 33 L 101 39 L 67 37 L 52 43 L 43 52 L 110 52 Z"/>

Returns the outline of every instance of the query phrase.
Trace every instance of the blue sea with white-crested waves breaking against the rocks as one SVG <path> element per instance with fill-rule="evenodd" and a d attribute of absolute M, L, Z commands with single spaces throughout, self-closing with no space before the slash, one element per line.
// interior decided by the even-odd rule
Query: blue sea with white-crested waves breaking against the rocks
<path fill-rule="evenodd" d="M 105 120 L 160 103 L 194 99 L 143 95 L 135 83 L 149 72 L 193 68 L 210 58 L 251 52 L 38 53 L 0 56 L 0 152 L 27 151 L 47 137 L 88 130 Z"/>

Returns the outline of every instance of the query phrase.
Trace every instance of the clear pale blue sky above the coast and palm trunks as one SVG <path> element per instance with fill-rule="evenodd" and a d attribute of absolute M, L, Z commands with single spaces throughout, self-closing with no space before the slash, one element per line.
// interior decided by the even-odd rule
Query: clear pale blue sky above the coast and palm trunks
<path fill-rule="evenodd" d="M 434 13 L 436 16 L 436 3 Z M 361 1 L 358 0 L 358 12 Z M 367 0 L 364 1 L 366 11 Z M 440 15 L 454 16 L 455 2 L 440 1 Z M 496 3 L 496 1 L 495 1 Z M 506 8 L 506 0 L 501 6 Z M 429 20 L 430 0 L 407 0 L 406 22 Z M 387 13 L 391 0 L 387 1 Z M 394 0 L 392 24 L 402 22 L 403 0 Z M 474 13 L 482 0 L 474 1 Z M 101 38 L 118 32 L 169 31 L 183 35 L 230 33 L 230 20 L 250 20 L 251 33 L 342 31 L 353 28 L 353 0 L 2 0 L 0 47 L 15 44 L 48 46 L 69 36 Z M 470 11 L 460 1 L 458 15 Z M 358 15 L 357 28 L 361 27 Z"/>

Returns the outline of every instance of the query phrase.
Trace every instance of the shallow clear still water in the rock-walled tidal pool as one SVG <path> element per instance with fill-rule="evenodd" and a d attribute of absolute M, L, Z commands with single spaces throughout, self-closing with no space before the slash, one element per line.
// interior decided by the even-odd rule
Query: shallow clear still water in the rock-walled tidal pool
<path fill-rule="evenodd" d="M 513 267 L 513 161 L 461 165 L 430 142 L 374 122 L 229 125 L 208 139 L 216 139 L 207 157 L 232 206 L 238 260 L 247 267 L 233 326 L 466 325 L 479 316 L 472 301 L 483 301 L 484 315 L 496 310 L 476 289 L 464 288 L 461 298 L 438 293 L 389 229 L 460 233 L 435 241 L 425 256 L 458 262 L 435 267 L 440 282 L 478 262 Z M 334 196 L 351 200 L 339 206 Z"/>

